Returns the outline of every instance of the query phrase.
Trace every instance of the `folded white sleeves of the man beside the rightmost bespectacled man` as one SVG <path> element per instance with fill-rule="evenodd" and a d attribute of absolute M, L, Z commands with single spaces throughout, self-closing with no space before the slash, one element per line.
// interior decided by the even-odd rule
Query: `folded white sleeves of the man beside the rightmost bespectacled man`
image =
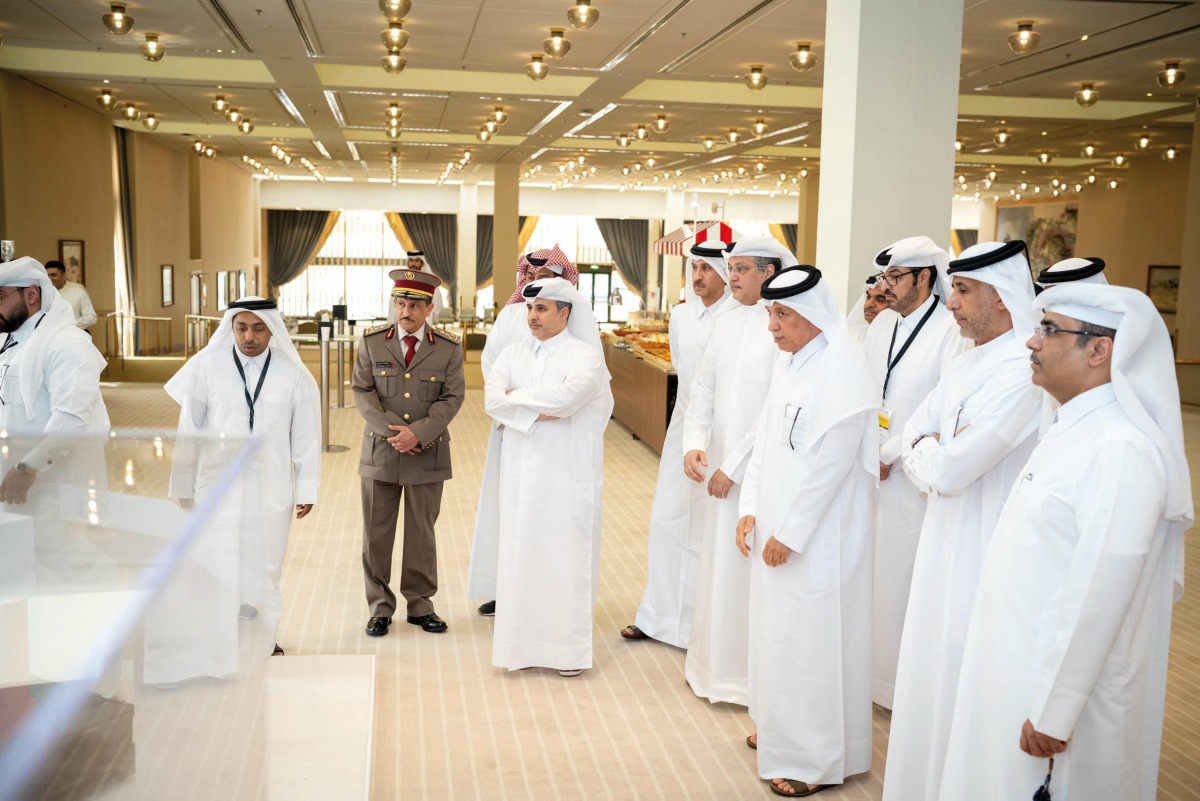
<path fill-rule="evenodd" d="M 1037 432 L 1042 392 L 1032 389 L 1028 374 L 1004 371 L 994 380 L 1003 384 L 984 386 L 982 392 L 990 397 L 972 412 L 970 428 L 959 436 L 937 430 L 946 401 L 941 384 L 908 418 L 902 436 L 904 469 L 923 493 L 965 493 Z M 966 423 L 960 423 L 960 428 L 961 424 Z M 925 438 L 912 447 L 912 440 L 920 434 L 941 434 L 941 438 Z"/>

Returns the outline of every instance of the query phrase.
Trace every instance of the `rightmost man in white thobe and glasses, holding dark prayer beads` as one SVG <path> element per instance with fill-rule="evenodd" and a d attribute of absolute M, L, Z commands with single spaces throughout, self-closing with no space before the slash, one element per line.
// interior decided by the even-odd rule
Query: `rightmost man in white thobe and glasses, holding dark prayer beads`
<path fill-rule="evenodd" d="M 1153 801 L 1195 517 L 1170 336 L 1124 287 L 1034 308 L 1033 381 L 1062 405 L 984 560 L 941 799 L 1031 797 L 1052 757 L 1056 801 Z"/>

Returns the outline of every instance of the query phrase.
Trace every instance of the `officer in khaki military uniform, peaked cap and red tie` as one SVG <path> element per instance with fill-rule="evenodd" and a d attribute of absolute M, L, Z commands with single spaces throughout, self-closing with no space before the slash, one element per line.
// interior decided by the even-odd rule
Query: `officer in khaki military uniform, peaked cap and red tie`
<path fill-rule="evenodd" d="M 362 572 L 371 619 L 367 634 L 388 633 L 396 612 L 391 550 L 400 501 L 404 501 L 404 552 L 400 594 L 408 622 L 444 632 L 433 612 L 438 590 L 433 524 L 442 508 L 442 482 L 450 478 L 450 432 L 466 396 L 458 339 L 426 323 L 442 279 L 427 272 L 392 270 L 396 323 L 362 335 L 354 365 L 354 403 L 366 420 L 359 475 L 362 488 Z"/>

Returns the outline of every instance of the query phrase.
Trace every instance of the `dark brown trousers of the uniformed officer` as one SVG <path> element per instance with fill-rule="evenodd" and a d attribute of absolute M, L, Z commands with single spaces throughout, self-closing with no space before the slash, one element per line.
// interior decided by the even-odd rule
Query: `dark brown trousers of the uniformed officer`
<path fill-rule="evenodd" d="M 396 543 L 400 502 L 404 501 L 404 544 L 401 554 L 400 594 L 408 614 L 419 618 L 433 612 L 430 600 L 438 591 L 438 553 L 433 524 L 442 511 L 442 484 L 394 484 L 361 478 L 362 489 L 362 576 L 366 580 L 371 616 L 391 618 L 396 613 L 392 592 L 391 552 Z"/>

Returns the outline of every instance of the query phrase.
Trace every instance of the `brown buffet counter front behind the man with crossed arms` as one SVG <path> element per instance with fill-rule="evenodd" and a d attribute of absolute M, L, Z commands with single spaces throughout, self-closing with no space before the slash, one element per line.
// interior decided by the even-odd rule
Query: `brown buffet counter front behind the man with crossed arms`
<path fill-rule="evenodd" d="M 617 348 L 612 335 L 604 336 L 604 355 L 612 374 L 613 418 L 661 456 L 678 386 L 674 371 L 653 356 Z"/>

